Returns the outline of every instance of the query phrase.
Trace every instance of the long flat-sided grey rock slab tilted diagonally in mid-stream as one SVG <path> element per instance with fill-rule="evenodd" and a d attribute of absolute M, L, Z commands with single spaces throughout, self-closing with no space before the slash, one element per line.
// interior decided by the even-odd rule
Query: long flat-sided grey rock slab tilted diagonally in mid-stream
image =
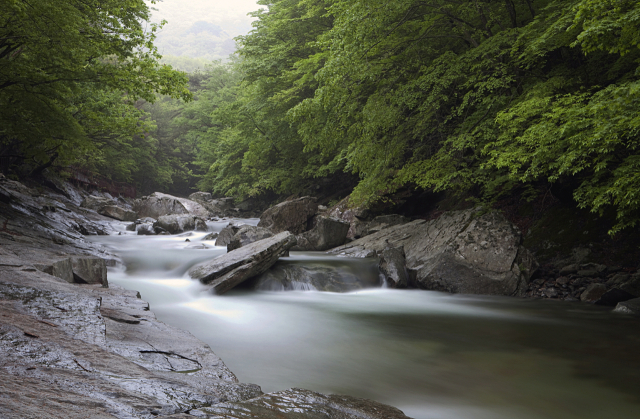
<path fill-rule="evenodd" d="M 196 265 L 189 270 L 189 275 L 209 284 L 216 294 L 224 294 L 269 269 L 295 244 L 295 236 L 285 231 Z"/>

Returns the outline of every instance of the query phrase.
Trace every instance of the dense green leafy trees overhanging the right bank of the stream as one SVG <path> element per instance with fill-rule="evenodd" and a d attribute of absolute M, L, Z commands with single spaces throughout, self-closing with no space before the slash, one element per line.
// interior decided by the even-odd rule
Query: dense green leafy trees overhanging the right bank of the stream
<path fill-rule="evenodd" d="M 241 81 L 207 88 L 201 187 L 294 193 L 351 171 L 351 204 L 370 205 L 571 179 L 579 206 L 616 208 L 614 231 L 637 223 L 636 1 L 259 4 Z"/>

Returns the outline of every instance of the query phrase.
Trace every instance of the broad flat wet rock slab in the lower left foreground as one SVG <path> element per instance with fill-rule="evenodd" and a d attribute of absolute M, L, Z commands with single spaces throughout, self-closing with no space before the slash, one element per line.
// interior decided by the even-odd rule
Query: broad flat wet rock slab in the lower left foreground
<path fill-rule="evenodd" d="M 135 291 L 0 268 L 0 417 L 179 414 L 261 395 Z"/>

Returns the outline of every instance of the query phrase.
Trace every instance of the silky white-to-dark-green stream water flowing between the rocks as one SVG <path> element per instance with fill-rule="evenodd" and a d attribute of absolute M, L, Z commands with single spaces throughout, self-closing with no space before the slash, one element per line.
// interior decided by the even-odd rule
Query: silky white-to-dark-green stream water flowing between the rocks
<path fill-rule="evenodd" d="M 206 233 L 136 236 L 114 226 L 121 235 L 92 238 L 126 264 L 109 282 L 140 291 L 159 319 L 208 343 L 265 392 L 350 394 L 415 419 L 640 418 L 638 318 L 581 303 L 385 288 L 215 296 L 186 275 L 226 252 L 202 241 Z M 371 280 L 370 260 L 288 259 Z"/>

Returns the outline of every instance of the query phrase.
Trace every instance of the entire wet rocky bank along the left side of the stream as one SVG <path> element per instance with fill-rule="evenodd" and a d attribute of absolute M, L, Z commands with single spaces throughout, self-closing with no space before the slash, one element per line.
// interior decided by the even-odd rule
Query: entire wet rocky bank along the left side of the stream
<path fill-rule="evenodd" d="M 118 258 L 83 235 L 109 233 L 112 218 L 84 208 L 87 197 L 0 177 L 0 417 L 406 418 L 374 401 L 239 383 L 136 291 L 109 285 Z M 113 201 L 99 209 L 111 217 L 127 213 L 104 208 L 129 211 L 98 198 Z"/>

